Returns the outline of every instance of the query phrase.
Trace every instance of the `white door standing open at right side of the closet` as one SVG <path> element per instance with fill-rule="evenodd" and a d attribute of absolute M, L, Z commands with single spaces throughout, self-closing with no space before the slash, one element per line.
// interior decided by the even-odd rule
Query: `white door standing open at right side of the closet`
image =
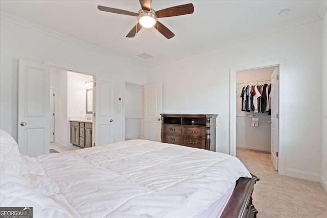
<path fill-rule="evenodd" d="M 270 159 L 275 168 L 278 170 L 278 67 L 275 68 L 271 75 L 271 150 Z"/>

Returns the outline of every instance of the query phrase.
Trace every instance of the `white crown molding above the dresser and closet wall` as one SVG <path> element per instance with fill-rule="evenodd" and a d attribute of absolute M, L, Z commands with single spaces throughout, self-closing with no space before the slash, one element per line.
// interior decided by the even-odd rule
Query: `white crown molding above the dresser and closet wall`
<path fill-rule="evenodd" d="M 255 39 L 255 38 L 259 38 L 265 35 L 269 35 L 269 34 L 273 34 L 273 33 L 277 33 L 277 32 L 283 32 L 283 31 L 287 31 L 289 29 L 293 29 L 293 28 L 297 28 L 300 26 L 304 26 L 304 25 L 308 25 L 309 23 L 313 23 L 316 21 L 321 21 L 321 17 L 317 14 L 313 14 L 313 15 L 309 15 L 309 16 L 304 16 L 304 17 L 299 17 L 299 18 L 295 18 L 286 22 L 283 22 L 279 25 L 274 25 L 271 26 L 265 30 L 261 30 L 255 34 L 252 35 L 248 35 L 248 36 L 240 36 L 239 38 L 231 38 L 229 40 L 227 40 L 226 42 L 217 44 L 215 46 L 210 47 L 209 49 L 200 49 L 196 52 L 191 52 L 191 53 L 186 53 L 186 54 L 178 54 L 178 55 L 174 55 L 165 59 L 152 59 L 151 61 L 147 61 L 146 62 L 146 66 L 147 68 L 149 67 L 154 67 L 154 66 L 158 66 L 161 64 L 165 64 L 165 63 L 169 63 L 172 61 L 177 61 L 180 59 L 184 59 L 184 58 L 188 58 L 188 57 L 192 57 L 192 56 L 196 56 L 202 53 L 206 53 L 209 51 L 213 51 L 213 50 L 217 50 L 220 49 L 222 47 L 226 47 L 232 44 L 236 44 L 239 42 L 243 42 L 243 41 L 248 41 L 251 39 Z"/>

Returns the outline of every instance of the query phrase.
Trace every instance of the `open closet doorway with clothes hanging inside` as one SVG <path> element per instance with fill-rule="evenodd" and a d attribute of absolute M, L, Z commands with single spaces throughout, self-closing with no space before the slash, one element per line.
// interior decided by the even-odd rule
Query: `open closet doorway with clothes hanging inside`
<path fill-rule="evenodd" d="M 265 153 L 276 171 L 280 159 L 278 82 L 279 64 L 231 69 L 231 90 L 236 94 L 231 96 L 230 153 L 252 158 Z"/>

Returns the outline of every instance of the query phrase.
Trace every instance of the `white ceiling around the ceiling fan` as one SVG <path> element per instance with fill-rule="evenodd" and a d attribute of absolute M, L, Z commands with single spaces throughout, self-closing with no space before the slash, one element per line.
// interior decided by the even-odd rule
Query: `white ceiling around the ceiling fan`
<path fill-rule="evenodd" d="M 97 6 L 137 12 L 141 8 L 137 0 L 0 2 L 0 10 L 6 14 L 147 65 L 318 20 L 325 11 L 323 1 L 153 0 L 151 7 L 154 10 L 193 3 L 194 13 L 158 19 L 175 34 L 172 39 L 166 39 L 161 34 L 157 37 L 154 28 L 143 28 L 136 37 L 126 38 L 136 24 L 136 17 L 99 11 Z M 278 16 L 286 8 L 291 13 L 285 17 Z M 136 56 L 144 52 L 154 57 L 144 60 Z"/>

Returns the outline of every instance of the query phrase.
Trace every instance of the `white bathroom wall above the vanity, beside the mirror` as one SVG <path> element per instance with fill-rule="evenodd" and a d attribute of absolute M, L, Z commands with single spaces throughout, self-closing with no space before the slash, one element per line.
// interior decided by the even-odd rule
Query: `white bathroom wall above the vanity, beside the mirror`
<path fill-rule="evenodd" d="M 85 82 L 92 80 L 92 76 L 67 72 L 67 115 L 68 117 L 85 117 L 86 89 Z"/>

